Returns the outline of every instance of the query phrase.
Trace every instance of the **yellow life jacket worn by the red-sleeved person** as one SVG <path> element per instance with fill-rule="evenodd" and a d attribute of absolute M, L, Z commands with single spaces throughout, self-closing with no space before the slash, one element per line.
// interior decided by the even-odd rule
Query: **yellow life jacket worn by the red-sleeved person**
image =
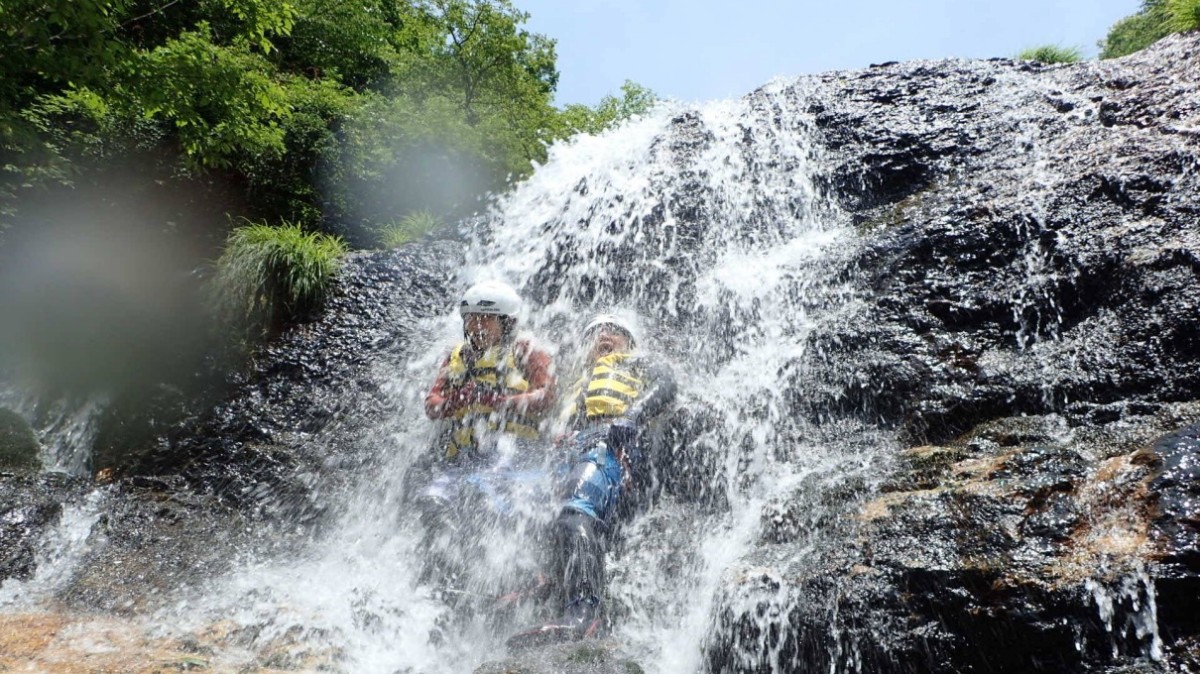
<path fill-rule="evenodd" d="M 511 396 L 529 390 L 529 381 L 521 372 L 516 356 L 516 347 L 497 345 L 484 351 L 475 362 L 467 363 L 463 357 L 462 342 L 450 351 L 446 380 L 451 389 L 464 386 L 468 381 L 475 387 Z M 474 403 L 458 410 L 450 420 L 450 439 L 446 444 L 446 458 L 455 458 L 460 452 L 476 446 L 475 428 L 482 426 L 491 432 L 503 431 L 518 438 L 538 439 L 538 422 L 528 415 L 516 413 L 500 414 L 492 405 Z"/>

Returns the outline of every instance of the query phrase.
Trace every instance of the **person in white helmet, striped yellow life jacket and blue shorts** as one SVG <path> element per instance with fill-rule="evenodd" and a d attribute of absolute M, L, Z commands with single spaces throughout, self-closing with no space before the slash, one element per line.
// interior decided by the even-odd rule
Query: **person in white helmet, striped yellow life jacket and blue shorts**
<path fill-rule="evenodd" d="M 552 577 L 560 583 L 563 613 L 559 620 L 510 638 L 511 648 L 604 631 L 605 537 L 618 518 L 623 492 L 648 468 L 642 462 L 644 427 L 676 398 L 671 368 L 636 350 L 630 321 L 600 314 L 582 336 L 583 373 L 562 416 L 577 459 L 563 483 L 552 542 Z"/>

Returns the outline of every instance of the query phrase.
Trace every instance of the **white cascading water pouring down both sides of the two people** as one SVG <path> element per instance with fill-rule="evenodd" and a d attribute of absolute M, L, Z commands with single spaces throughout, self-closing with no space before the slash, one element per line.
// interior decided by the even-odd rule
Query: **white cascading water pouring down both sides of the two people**
<path fill-rule="evenodd" d="M 523 291 L 528 332 L 563 347 L 564 386 L 577 330 L 596 311 L 636 315 L 646 350 L 677 373 L 679 411 L 647 469 L 659 495 L 610 552 L 614 638 L 652 670 L 703 668 L 719 589 L 746 573 L 739 560 L 763 522 L 774 512 L 818 549 L 818 494 L 869 481 L 887 444 L 851 446 L 797 411 L 811 335 L 857 306 L 842 273 L 854 237 L 811 180 L 816 145 L 794 113 L 803 95 L 773 85 L 557 148 L 497 205 L 460 272 L 463 285 L 503 278 Z M 448 315 L 420 331 L 427 350 L 379 366 L 394 423 L 365 439 L 379 470 L 336 532 L 308 559 L 244 571 L 216 602 L 240 606 L 260 643 L 304 633 L 355 672 L 464 672 L 538 616 L 496 618 L 487 597 L 536 572 L 552 499 L 527 505 L 515 526 L 475 530 L 454 589 L 422 576 L 428 550 L 406 476 L 430 451 L 421 398 L 461 327 Z M 792 522 L 797 512 L 812 519 Z"/>

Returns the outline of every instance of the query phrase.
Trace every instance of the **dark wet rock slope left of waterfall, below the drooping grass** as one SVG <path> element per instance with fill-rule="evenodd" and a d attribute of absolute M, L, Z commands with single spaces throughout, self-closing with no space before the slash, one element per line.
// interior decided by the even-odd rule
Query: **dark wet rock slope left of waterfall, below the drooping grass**
<path fill-rule="evenodd" d="M 364 461 L 355 453 L 362 429 L 389 414 L 372 367 L 401 362 L 416 323 L 446 313 L 460 258 L 450 242 L 350 255 L 316 320 L 266 345 L 222 402 L 121 473 L 179 476 L 192 491 L 272 517 L 317 517 L 320 494 Z"/>

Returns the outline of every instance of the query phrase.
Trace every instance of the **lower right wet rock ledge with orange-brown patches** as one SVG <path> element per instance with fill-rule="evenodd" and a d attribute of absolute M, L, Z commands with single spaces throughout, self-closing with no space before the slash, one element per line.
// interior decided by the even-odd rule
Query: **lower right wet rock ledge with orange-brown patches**
<path fill-rule="evenodd" d="M 1171 566 L 1176 520 L 1153 487 L 1171 459 L 1151 447 L 1198 419 L 1194 403 L 1105 425 L 1013 417 L 906 450 L 832 553 L 788 555 L 800 532 L 764 532 L 710 670 L 1182 670 L 1198 584 Z"/>

